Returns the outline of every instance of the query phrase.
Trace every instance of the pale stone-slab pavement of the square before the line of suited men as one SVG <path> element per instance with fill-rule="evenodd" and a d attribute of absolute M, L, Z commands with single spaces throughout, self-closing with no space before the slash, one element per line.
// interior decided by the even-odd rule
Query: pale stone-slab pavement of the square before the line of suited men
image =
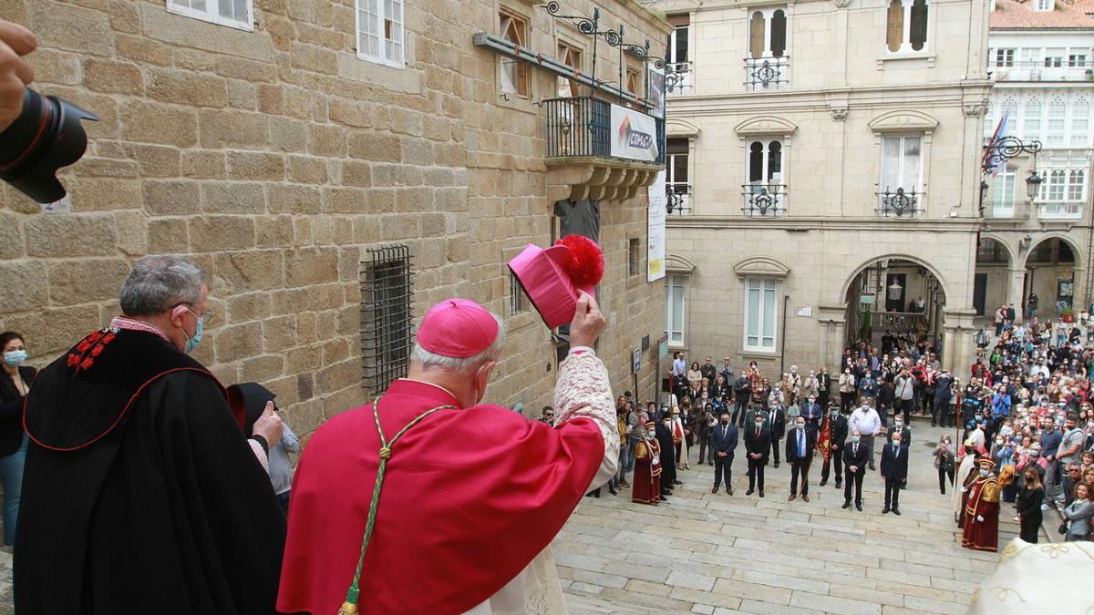
<path fill-rule="evenodd" d="M 882 514 L 884 484 L 863 483 L 863 511 L 842 510 L 835 480 L 787 501 L 790 467 L 767 468 L 766 498 L 745 496 L 744 445 L 734 496 L 711 494 L 713 467 L 682 471 L 671 502 L 630 502 L 630 490 L 584 498 L 552 546 L 571 613 L 965 613 L 997 555 L 961 547 L 950 489 L 939 494 L 933 445 L 942 430 L 912 426 L 900 517 Z M 782 445 L 784 441 L 780 442 Z M 927 444 L 930 443 L 930 446 Z M 880 463 L 884 438 L 876 442 Z M 780 455 L 781 456 L 781 455 Z M 1004 504 L 1000 544 L 1017 534 Z M 1044 531 L 1043 531 L 1044 532 Z M 1045 536 L 1043 534 L 1043 539 Z"/>

